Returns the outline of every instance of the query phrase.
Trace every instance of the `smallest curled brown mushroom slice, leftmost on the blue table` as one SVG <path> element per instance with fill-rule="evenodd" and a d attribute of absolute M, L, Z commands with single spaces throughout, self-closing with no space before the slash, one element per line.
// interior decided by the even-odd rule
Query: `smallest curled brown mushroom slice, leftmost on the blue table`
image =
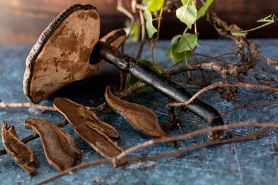
<path fill-rule="evenodd" d="M 31 176 L 35 175 L 37 173 L 36 157 L 33 150 L 19 140 L 15 127 L 7 127 L 7 123 L 3 122 L 1 133 L 2 142 L 8 154 L 26 173 Z"/>

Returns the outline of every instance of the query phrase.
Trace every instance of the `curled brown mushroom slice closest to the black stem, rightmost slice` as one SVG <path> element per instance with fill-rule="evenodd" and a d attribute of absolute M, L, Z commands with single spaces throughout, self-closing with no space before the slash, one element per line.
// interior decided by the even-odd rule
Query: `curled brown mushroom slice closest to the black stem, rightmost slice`
<path fill-rule="evenodd" d="M 124 118 L 126 118 L 136 129 L 145 134 L 149 134 L 150 136 L 167 136 L 158 123 L 157 115 L 150 109 L 147 109 L 147 107 L 135 103 L 129 103 L 126 100 L 114 96 L 111 93 L 109 86 L 106 87 L 105 98 L 108 105 L 112 107 L 115 112 L 124 116 Z"/>

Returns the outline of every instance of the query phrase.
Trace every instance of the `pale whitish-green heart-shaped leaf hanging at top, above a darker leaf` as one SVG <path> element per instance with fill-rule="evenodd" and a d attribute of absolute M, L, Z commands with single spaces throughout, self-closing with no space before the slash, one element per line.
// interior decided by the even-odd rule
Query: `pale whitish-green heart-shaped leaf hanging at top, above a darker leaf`
<path fill-rule="evenodd" d="M 197 20 L 197 9 L 195 6 L 181 6 L 176 10 L 176 15 L 180 21 L 191 29 L 192 25 Z"/>

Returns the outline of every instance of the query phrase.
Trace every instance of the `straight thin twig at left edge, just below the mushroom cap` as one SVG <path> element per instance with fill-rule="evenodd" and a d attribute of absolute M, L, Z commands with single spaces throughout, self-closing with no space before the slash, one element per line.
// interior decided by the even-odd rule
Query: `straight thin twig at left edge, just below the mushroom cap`
<path fill-rule="evenodd" d="M 56 111 L 52 106 L 39 105 L 35 103 L 11 103 L 11 102 L 0 102 L 0 107 L 32 107 L 35 109 Z"/>

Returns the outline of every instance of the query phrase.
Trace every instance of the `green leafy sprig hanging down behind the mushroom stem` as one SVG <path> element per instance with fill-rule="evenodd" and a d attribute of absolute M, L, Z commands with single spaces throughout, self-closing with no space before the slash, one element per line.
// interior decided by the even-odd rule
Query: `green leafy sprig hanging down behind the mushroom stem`
<path fill-rule="evenodd" d="M 145 10 L 144 12 L 144 17 L 146 20 L 148 37 L 149 39 L 152 39 L 154 40 L 154 42 L 156 42 L 158 37 L 154 37 L 154 35 L 155 33 L 157 33 L 157 35 L 159 34 L 160 28 L 156 28 L 153 22 L 154 19 L 162 19 L 162 17 L 160 17 L 159 15 L 158 17 L 155 16 L 157 15 L 156 12 L 163 11 L 163 4 L 165 3 L 165 1 L 149 0 L 143 1 L 142 3 L 147 5 L 147 10 Z M 170 49 L 167 51 L 167 57 L 172 58 L 173 64 L 177 64 L 183 60 L 186 62 L 186 64 L 188 64 L 188 58 L 194 55 L 195 48 L 199 46 L 199 44 L 197 43 L 198 33 L 196 21 L 206 14 L 206 10 L 208 10 L 208 7 L 211 5 L 211 3 L 213 3 L 213 0 L 207 0 L 203 4 L 203 6 L 199 8 L 199 10 L 197 10 L 196 7 L 196 0 L 181 0 L 181 3 L 182 6 L 177 8 L 176 10 L 176 16 L 181 22 L 186 24 L 186 28 L 183 31 L 182 35 L 176 35 L 172 38 L 172 44 L 170 46 Z M 153 16 L 155 18 L 153 18 Z M 193 28 L 193 25 L 195 34 L 188 33 L 188 30 Z M 154 47 L 152 47 L 152 50 L 154 50 Z"/>

